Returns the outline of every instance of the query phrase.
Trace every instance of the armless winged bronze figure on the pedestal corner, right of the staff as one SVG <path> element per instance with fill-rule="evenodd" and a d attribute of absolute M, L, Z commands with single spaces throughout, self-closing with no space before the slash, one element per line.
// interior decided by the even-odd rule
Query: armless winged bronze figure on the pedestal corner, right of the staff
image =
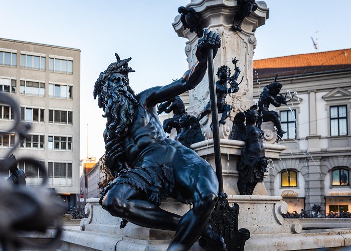
<path fill-rule="evenodd" d="M 229 135 L 230 140 L 245 141 L 237 164 L 239 171 L 238 189 L 243 195 L 252 195 L 257 183 L 263 181 L 268 164 L 263 145 L 264 132 L 256 127 L 258 119 L 256 105 L 252 106 L 250 110 L 237 113 L 234 117 L 232 132 Z M 246 125 L 244 124 L 245 120 Z"/>

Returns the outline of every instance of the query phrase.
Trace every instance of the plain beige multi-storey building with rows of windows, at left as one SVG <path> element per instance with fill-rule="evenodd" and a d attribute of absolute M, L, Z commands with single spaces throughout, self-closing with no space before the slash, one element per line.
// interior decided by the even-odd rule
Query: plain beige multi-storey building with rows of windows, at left
<path fill-rule="evenodd" d="M 45 164 L 48 187 L 67 207 L 79 193 L 80 50 L 0 39 L 0 91 L 9 93 L 21 107 L 21 120 L 32 124 L 25 139 L 10 133 L 1 138 L 0 156 L 21 141 L 17 157 Z M 2 128 L 10 128 L 15 114 L 0 105 Z M 29 163 L 20 163 L 28 185 L 43 175 Z"/>

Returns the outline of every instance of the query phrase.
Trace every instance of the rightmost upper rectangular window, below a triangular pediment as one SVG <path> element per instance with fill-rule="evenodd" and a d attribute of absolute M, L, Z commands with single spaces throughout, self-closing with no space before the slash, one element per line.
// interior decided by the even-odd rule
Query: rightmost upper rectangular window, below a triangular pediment
<path fill-rule="evenodd" d="M 347 135 L 346 105 L 330 106 L 330 136 Z"/>

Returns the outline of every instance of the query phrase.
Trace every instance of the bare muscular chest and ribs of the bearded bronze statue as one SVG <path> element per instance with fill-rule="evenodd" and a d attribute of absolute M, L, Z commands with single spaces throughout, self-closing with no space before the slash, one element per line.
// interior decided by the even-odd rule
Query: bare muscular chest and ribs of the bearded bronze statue
<path fill-rule="evenodd" d="M 139 104 L 134 109 L 133 121 L 128 127 L 128 134 L 123 139 L 126 160 L 133 167 L 133 161 L 147 146 L 167 140 L 154 106 L 146 106 L 145 98 L 137 95 Z"/>

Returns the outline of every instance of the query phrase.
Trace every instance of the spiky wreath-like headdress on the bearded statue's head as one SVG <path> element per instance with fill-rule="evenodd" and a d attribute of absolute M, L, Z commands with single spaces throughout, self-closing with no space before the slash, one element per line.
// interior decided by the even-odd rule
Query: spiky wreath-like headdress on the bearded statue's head
<path fill-rule="evenodd" d="M 117 61 L 110 64 L 104 72 L 100 73 L 94 85 L 94 99 L 96 99 L 96 96 L 98 97 L 97 103 L 99 105 L 99 108 L 102 107 L 104 111 L 105 96 L 103 95 L 102 87 L 104 86 L 106 80 L 110 77 L 112 73 L 120 73 L 125 77 L 125 79 L 127 80 L 127 84 L 129 85 L 128 73 L 135 72 L 132 68 L 128 67 L 128 62 L 131 60 L 131 58 L 120 59 L 117 53 L 115 53 L 115 56 Z"/>

